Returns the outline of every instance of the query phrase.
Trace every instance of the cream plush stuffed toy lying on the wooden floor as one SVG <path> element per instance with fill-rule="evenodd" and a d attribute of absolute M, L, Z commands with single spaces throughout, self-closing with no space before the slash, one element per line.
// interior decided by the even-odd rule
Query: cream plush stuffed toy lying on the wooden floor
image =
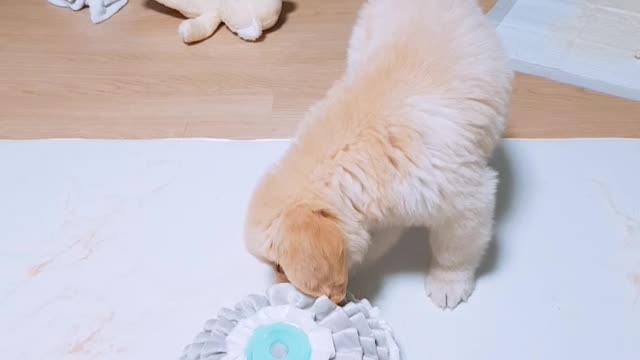
<path fill-rule="evenodd" d="M 178 32 L 185 43 L 204 40 L 224 22 L 247 41 L 257 40 L 278 21 L 282 0 L 156 0 L 189 18 Z"/>

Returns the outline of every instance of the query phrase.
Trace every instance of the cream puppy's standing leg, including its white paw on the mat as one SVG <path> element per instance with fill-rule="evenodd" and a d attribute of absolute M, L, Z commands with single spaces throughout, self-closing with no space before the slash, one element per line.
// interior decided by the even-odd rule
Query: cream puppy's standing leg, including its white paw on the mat
<path fill-rule="evenodd" d="M 425 289 L 441 308 L 453 309 L 469 298 L 492 237 L 496 173 L 482 169 L 472 183 L 461 182 L 446 205 L 445 218 L 431 228 L 432 259 Z"/>

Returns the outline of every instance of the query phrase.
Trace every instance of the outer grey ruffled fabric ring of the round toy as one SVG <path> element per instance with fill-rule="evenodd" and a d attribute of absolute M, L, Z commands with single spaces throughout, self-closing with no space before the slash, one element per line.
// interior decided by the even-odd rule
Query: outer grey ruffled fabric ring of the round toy
<path fill-rule="evenodd" d="M 266 307 L 290 306 L 331 331 L 333 349 L 327 360 L 400 360 L 400 350 L 387 323 L 367 300 L 337 306 L 327 297 L 310 298 L 290 284 L 274 285 L 266 296 L 250 295 L 232 309 L 223 308 L 184 349 L 180 360 L 227 360 L 227 336 L 244 319 Z"/>

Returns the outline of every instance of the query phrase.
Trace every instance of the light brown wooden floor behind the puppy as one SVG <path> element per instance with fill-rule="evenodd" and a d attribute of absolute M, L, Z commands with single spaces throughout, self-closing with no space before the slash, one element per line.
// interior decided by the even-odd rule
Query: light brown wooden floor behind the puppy
<path fill-rule="evenodd" d="M 100 25 L 2 1 L 0 138 L 288 137 L 343 70 L 361 3 L 287 1 L 261 42 L 221 28 L 186 46 L 181 17 L 151 0 Z M 640 103 L 518 75 L 507 135 L 640 137 Z"/>

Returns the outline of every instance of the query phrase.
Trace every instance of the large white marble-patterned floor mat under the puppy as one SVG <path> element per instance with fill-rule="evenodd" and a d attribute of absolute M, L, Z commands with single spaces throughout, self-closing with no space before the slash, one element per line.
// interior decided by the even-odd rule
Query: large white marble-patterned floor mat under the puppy
<path fill-rule="evenodd" d="M 202 323 L 262 292 L 241 241 L 252 187 L 286 142 L 0 142 L 0 353 L 175 359 Z M 635 360 L 640 141 L 506 141 L 495 246 L 470 302 L 427 301 L 426 235 L 352 291 L 404 359 Z"/>

